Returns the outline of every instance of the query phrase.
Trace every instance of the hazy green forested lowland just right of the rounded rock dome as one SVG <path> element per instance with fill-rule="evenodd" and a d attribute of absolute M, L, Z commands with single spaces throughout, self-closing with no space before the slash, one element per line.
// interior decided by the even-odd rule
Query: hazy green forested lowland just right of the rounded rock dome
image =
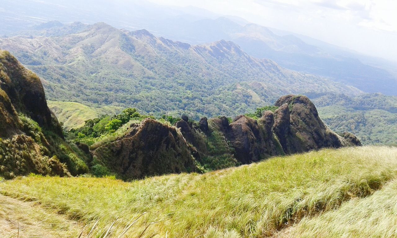
<path fill-rule="evenodd" d="M 333 131 L 352 132 L 363 144 L 397 144 L 397 97 L 328 95 L 313 102 Z"/>

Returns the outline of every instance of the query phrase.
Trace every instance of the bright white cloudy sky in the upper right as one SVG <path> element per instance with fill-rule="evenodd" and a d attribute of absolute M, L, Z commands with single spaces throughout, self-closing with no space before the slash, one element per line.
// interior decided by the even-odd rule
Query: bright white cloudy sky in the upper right
<path fill-rule="evenodd" d="M 397 61 L 397 0 L 150 0 L 237 15 Z"/>

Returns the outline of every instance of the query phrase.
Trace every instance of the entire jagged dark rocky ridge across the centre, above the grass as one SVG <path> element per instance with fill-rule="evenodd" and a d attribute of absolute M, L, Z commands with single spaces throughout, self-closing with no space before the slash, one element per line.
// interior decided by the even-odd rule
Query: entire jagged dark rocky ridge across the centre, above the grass
<path fill-rule="evenodd" d="M 258 120 L 239 115 L 231 123 L 226 117 L 202 118 L 197 123 L 184 115 L 175 127 L 170 127 L 145 119 L 131 125 L 123 136 L 93 150 L 93 161 L 123 179 L 131 179 L 361 145 L 351 133 L 338 135 L 331 131 L 306 96 L 283 96 L 276 106 L 279 108 L 274 113 L 265 111 Z"/>

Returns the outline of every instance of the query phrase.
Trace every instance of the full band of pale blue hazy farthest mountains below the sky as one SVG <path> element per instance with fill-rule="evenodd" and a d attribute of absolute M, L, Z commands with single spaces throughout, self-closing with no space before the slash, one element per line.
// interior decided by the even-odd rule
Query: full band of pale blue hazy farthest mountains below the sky
<path fill-rule="evenodd" d="M 272 59 L 287 69 L 331 77 L 333 81 L 365 92 L 397 95 L 395 63 L 200 8 L 161 6 L 137 0 L 128 4 L 121 0 L 5 0 L 2 8 L 5 9 L 2 12 L 5 24 L 0 25 L 1 35 L 13 36 L 19 31 L 16 34 L 28 37 L 50 36 L 51 33 L 56 33 L 51 36 L 58 36 L 67 30 L 40 33 L 34 28 L 40 23 L 44 23 L 42 27 L 52 28 L 53 25 L 46 23 L 51 20 L 90 24 L 105 21 L 127 31 L 145 28 L 156 36 L 189 44 L 231 40 L 249 55 Z"/>

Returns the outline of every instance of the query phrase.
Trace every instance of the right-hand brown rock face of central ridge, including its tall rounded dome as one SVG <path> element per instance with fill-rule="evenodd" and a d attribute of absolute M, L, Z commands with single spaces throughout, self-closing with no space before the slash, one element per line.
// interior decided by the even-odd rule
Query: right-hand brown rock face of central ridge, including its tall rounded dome
<path fill-rule="evenodd" d="M 274 155 L 361 145 L 360 140 L 351 133 L 345 132 L 339 136 L 331 131 L 306 96 L 283 96 L 275 106 L 279 108 L 274 113 L 265 111 L 258 120 L 244 115 L 237 116 L 232 123 L 226 117 L 210 119 L 213 125 L 211 130 L 222 133 L 224 140 L 229 142 L 234 157 L 243 164 Z M 206 119 L 200 120 L 194 130 L 187 123 L 177 123 L 176 126 L 186 135 L 189 143 L 200 148 L 202 142 L 198 143 L 197 136 L 192 134 L 200 131 L 208 134 L 204 132 L 208 131 L 208 123 L 205 124 L 204 121 Z"/>

